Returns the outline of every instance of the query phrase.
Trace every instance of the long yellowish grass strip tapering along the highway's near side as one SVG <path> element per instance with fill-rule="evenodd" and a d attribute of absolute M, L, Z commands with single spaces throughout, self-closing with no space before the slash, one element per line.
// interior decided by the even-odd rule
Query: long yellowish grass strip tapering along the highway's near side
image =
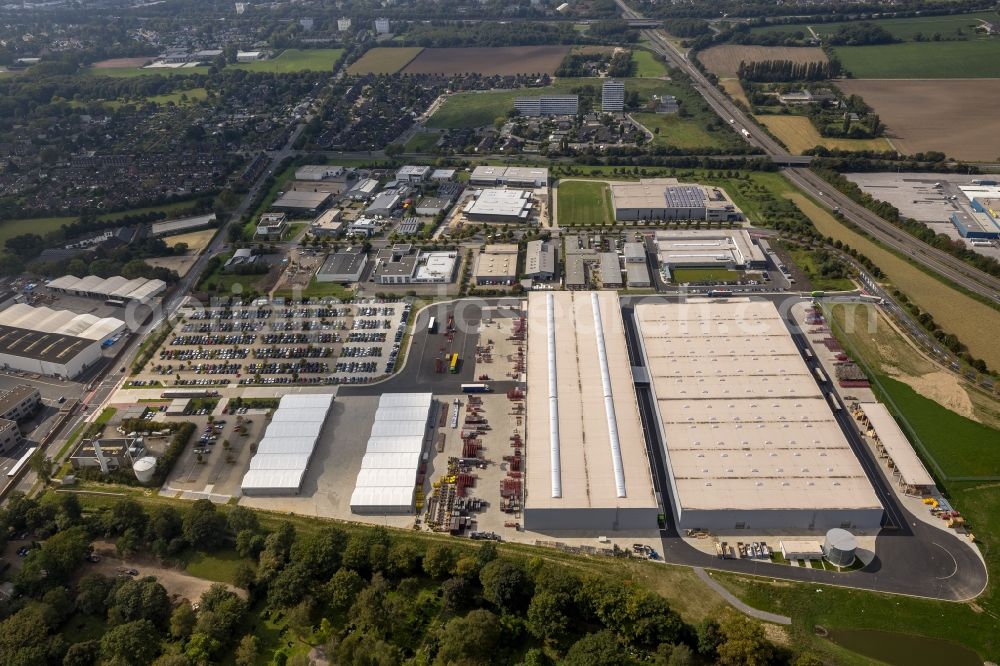
<path fill-rule="evenodd" d="M 824 236 L 840 240 L 875 262 L 888 279 L 934 321 L 954 333 L 992 368 L 1000 368 L 1000 347 L 994 331 L 1000 330 L 1000 313 L 985 303 L 943 284 L 902 257 L 851 231 L 803 194 L 790 187 L 786 196 L 812 220 Z"/>

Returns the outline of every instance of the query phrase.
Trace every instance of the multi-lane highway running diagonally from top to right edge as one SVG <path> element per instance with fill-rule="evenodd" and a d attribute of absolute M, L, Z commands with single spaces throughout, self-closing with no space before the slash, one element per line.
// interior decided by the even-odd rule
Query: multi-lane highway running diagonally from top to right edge
<path fill-rule="evenodd" d="M 624 0 L 616 0 L 626 19 L 641 19 Z M 777 163 L 793 159 L 769 134 L 761 129 L 747 114 L 743 113 L 723 92 L 716 88 L 701 71 L 694 66 L 687 54 L 678 51 L 658 30 L 643 30 L 654 49 L 675 68 L 691 77 L 692 85 L 720 118 L 735 131 L 746 130 L 747 140 L 762 148 Z M 729 122 L 732 120 L 733 122 Z M 830 183 L 818 175 L 802 168 L 783 168 L 782 172 L 796 187 L 813 196 L 827 208 L 839 209 L 841 215 L 865 230 L 873 238 L 923 265 L 928 270 L 951 280 L 955 284 L 1000 302 L 1000 279 L 988 275 L 960 259 L 927 245 L 905 231 L 893 226 L 868 209 L 856 204 L 849 197 L 837 191 Z"/>

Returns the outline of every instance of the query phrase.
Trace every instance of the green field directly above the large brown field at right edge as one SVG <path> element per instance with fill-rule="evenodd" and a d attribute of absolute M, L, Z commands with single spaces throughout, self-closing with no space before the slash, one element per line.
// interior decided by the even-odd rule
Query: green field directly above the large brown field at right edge
<path fill-rule="evenodd" d="M 856 79 L 1000 77 L 1000 39 L 838 46 L 833 52 Z"/>

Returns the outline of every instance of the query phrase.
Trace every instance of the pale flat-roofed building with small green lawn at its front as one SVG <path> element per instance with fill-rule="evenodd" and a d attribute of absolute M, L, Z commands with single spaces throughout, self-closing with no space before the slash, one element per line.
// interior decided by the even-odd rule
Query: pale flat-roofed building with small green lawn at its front
<path fill-rule="evenodd" d="M 744 229 L 671 229 L 656 232 L 660 266 L 748 269 L 767 266 L 767 255 Z"/>

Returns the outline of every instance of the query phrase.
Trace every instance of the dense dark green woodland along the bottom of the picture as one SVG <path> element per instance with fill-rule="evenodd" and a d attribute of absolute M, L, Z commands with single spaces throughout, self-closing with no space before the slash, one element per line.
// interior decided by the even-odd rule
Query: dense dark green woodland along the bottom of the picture
<path fill-rule="evenodd" d="M 692 626 L 663 597 L 572 560 L 267 520 L 207 500 L 146 509 L 121 499 L 85 513 L 72 493 L 12 496 L 0 534 L 36 543 L 0 605 L 0 663 L 307 664 L 312 646 L 359 665 L 818 663 L 741 614 Z M 154 576 L 88 571 L 95 539 L 154 570 L 228 553 L 233 584 L 186 599 Z"/>

